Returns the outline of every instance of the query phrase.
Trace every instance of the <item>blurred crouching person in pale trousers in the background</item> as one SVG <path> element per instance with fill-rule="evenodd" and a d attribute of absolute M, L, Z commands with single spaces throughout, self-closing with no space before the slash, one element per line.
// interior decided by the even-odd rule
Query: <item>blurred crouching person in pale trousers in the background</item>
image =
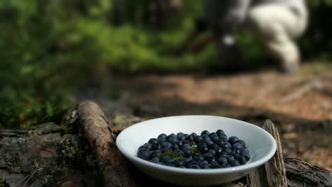
<path fill-rule="evenodd" d="M 307 25 L 304 0 L 204 0 L 204 14 L 198 18 L 194 30 L 177 54 L 198 52 L 211 41 L 216 42 L 216 54 L 223 67 L 240 68 L 241 58 L 234 33 L 239 27 L 250 30 L 281 63 L 286 73 L 296 72 L 300 55 L 295 39 Z M 212 34 L 189 47 L 200 33 Z"/>

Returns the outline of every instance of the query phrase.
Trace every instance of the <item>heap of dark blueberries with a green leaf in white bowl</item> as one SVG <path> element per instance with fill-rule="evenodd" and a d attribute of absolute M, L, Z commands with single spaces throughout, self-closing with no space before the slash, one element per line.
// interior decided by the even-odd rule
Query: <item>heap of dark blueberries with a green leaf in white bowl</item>
<path fill-rule="evenodd" d="M 227 138 L 223 130 L 201 135 L 178 132 L 160 134 L 138 148 L 140 159 L 190 169 L 218 169 L 243 165 L 250 159 L 249 149 L 236 136 Z"/>

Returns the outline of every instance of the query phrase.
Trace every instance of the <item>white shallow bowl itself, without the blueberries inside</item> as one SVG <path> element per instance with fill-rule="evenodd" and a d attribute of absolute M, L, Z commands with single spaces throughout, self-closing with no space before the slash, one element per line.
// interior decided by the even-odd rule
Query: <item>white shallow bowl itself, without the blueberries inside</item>
<path fill-rule="evenodd" d="M 184 132 L 197 134 L 203 130 L 224 130 L 228 137 L 245 141 L 251 159 L 242 166 L 226 169 L 181 169 L 162 166 L 136 157 L 138 147 L 161 133 Z M 209 115 L 183 115 L 146 120 L 132 125 L 118 135 L 120 152 L 140 170 L 156 179 L 182 186 L 210 186 L 234 181 L 267 162 L 276 150 L 275 139 L 265 130 L 250 123 Z"/>

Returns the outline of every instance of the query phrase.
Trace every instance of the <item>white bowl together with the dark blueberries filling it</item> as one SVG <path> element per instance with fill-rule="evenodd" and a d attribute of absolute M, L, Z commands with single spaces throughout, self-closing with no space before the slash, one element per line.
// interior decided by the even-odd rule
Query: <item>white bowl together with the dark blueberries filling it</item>
<path fill-rule="evenodd" d="M 145 174 L 180 186 L 235 181 L 265 164 L 277 149 L 262 128 L 211 115 L 146 120 L 123 130 L 116 146 Z"/>

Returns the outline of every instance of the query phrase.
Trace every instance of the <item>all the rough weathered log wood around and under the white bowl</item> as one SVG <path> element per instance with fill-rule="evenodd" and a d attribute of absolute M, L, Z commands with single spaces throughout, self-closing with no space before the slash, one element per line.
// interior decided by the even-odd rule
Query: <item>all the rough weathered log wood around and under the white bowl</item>
<path fill-rule="evenodd" d="M 270 126 L 265 130 L 278 140 L 274 125 L 266 124 Z M 45 123 L 26 130 L 0 130 L 0 187 L 170 186 L 138 171 L 118 152 L 112 130 L 120 132 L 126 127 L 127 123 L 114 128 L 96 103 L 84 101 L 68 111 L 62 125 Z M 261 177 L 265 173 L 266 177 L 276 173 L 284 178 L 260 178 L 263 186 L 284 186 L 286 181 L 292 187 L 332 186 L 331 171 L 299 159 L 282 159 L 279 146 L 279 152 L 257 174 Z M 249 185 L 243 178 L 222 186 Z"/>

